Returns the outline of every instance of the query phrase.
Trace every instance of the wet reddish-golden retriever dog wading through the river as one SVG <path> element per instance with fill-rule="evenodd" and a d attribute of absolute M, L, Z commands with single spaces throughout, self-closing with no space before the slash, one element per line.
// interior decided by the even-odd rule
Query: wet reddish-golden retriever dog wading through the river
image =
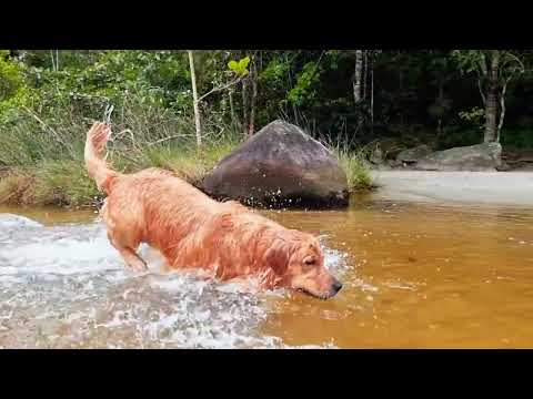
<path fill-rule="evenodd" d="M 201 268 L 220 280 L 255 276 L 263 289 L 284 287 L 326 299 L 342 284 L 324 267 L 319 242 L 241 204 L 218 202 L 172 173 L 121 174 L 105 162 L 111 131 L 94 123 L 84 149 L 89 176 L 107 194 L 101 216 L 125 264 L 145 270 L 137 249 L 159 249 L 167 267 Z"/>

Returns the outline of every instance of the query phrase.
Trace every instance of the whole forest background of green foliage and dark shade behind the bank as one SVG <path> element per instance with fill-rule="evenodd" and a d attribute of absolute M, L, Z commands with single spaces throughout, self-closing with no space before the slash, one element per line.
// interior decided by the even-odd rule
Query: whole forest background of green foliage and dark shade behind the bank
<path fill-rule="evenodd" d="M 523 65 L 506 88 L 501 141 L 531 147 L 532 54 L 501 52 Z M 17 123 L 26 108 L 42 119 L 62 110 L 98 119 L 108 104 L 120 109 L 127 101 L 192 117 L 187 51 L 2 51 L 0 57 L 3 125 Z M 235 80 L 228 63 L 245 57 L 248 74 L 223 88 Z M 452 50 L 218 50 L 194 51 L 194 62 L 200 94 L 222 88 L 200 103 L 207 126 L 231 124 L 250 134 L 281 116 L 353 145 L 383 137 L 432 140 L 441 149 L 483 141 L 479 76 L 465 71 Z"/>

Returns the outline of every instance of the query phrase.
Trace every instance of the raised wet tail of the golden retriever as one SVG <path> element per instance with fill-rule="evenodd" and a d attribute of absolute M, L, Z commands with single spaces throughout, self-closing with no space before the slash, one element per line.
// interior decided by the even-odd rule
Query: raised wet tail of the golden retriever
<path fill-rule="evenodd" d="M 99 190 L 109 194 L 120 176 L 105 163 L 105 144 L 111 135 L 111 130 L 104 124 L 97 122 L 87 133 L 86 141 L 86 167 L 89 176 L 97 182 Z"/>

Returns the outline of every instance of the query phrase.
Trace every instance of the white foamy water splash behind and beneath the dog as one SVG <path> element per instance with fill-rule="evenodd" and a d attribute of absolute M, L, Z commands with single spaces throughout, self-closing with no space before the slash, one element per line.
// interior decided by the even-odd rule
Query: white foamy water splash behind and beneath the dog
<path fill-rule="evenodd" d="M 162 275 L 161 257 L 148 246 L 140 253 L 150 270 L 135 274 L 124 269 L 100 223 L 44 227 L 0 216 L 2 347 L 285 347 L 259 332 L 266 303 L 282 290 Z M 328 267 L 341 267 L 342 259 L 328 252 Z"/>

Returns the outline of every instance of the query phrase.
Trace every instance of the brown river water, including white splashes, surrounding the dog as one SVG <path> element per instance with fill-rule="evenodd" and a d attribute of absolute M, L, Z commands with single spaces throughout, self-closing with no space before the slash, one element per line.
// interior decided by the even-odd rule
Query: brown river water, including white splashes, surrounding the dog
<path fill-rule="evenodd" d="M 285 290 L 127 272 L 92 211 L 0 207 L 4 348 L 533 348 L 533 209 L 354 198 L 265 212 L 344 283 Z"/>

